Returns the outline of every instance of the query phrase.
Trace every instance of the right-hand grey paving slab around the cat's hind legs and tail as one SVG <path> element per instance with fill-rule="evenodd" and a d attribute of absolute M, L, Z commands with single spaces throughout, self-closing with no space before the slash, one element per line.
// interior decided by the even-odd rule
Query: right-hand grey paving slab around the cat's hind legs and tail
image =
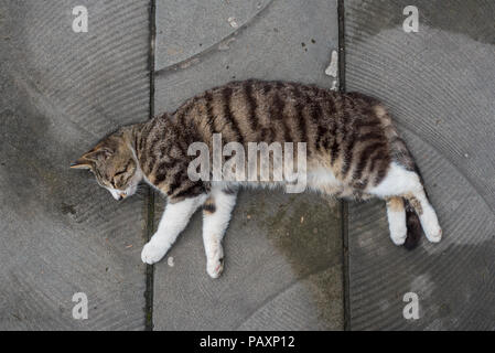
<path fill-rule="evenodd" d="M 345 1 L 346 86 L 384 100 L 426 180 L 443 240 L 408 253 L 388 239 L 383 203 L 349 207 L 354 330 L 495 329 L 495 7 Z M 405 320 L 407 292 L 420 319 Z"/>

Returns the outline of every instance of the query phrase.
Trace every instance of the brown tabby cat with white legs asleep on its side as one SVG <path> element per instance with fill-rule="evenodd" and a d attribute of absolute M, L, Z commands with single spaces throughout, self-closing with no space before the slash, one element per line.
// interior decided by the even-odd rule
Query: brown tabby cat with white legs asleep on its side
<path fill-rule="evenodd" d="M 430 242 L 441 239 L 418 168 L 389 114 L 380 101 L 358 93 L 286 82 L 229 83 L 186 100 L 173 114 L 118 129 L 72 168 L 89 169 L 116 200 L 132 195 L 141 181 L 166 196 L 158 231 L 141 253 L 149 265 L 163 258 L 202 207 L 206 271 L 217 278 L 224 268 L 222 239 L 239 188 L 293 183 L 190 178 L 195 159 L 190 147 L 202 142 L 212 152 L 217 133 L 223 147 L 305 142 L 305 156 L 299 158 L 306 158 L 306 189 L 336 197 L 385 200 L 396 245 L 412 248 L 422 232 Z M 271 174 L 280 168 L 273 161 Z"/>

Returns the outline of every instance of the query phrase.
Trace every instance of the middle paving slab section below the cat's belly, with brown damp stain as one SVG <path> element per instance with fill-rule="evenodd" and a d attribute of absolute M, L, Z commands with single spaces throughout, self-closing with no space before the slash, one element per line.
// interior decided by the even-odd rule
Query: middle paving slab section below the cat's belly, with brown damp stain
<path fill-rule="evenodd" d="M 197 213 L 155 265 L 154 329 L 342 329 L 340 224 L 337 204 L 314 195 L 245 191 L 212 279 Z"/>

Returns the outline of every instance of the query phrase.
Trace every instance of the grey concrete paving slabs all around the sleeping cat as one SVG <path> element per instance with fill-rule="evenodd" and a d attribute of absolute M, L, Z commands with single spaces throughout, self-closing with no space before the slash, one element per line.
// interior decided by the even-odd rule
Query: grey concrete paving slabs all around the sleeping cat
<path fill-rule="evenodd" d="M 87 33 L 72 29 L 80 4 Z M 407 6 L 418 32 L 403 31 Z M 200 214 L 147 277 L 147 190 L 117 203 L 67 168 L 118 126 L 149 118 L 150 1 L 0 0 L 0 329 L 143 330 L 148 309 L 155 330 L 494 330 L 494 4 L 344 9 L 345 76 L 334 77 L 336 1 L 157 0 L 153 109 L 234 79 L 330 88 L 341 78 L 389 107 L 444 239 L 395 247 L 378 201 L 341 214 L 313 194 L 243 191 L 213 280 Z M 154 206 L 158 220 L 163 200 Z M 73 317 L 75 293 L 87 297 L 87 320 Z M 411 293 L 419 318 L 407 320 Z"/>

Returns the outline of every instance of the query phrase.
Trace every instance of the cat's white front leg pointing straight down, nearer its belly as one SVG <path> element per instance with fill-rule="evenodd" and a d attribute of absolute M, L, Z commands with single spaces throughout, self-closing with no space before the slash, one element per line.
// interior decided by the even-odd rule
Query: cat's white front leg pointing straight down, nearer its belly
<path fill-rule="evenodd" d="M 222 239 L 236 205 L 237 190 L 213 186 L 203 205 L 203 243 L 206 253 L 206 271 L 218 278 L 224 270 Z"/>

